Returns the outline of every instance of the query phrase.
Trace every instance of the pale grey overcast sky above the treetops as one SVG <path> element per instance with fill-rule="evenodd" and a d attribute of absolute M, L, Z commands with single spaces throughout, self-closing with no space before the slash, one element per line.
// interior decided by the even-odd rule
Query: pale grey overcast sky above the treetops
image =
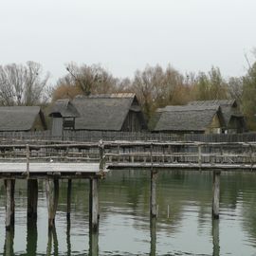
<path fill-rule="evenodd" d="M 0 64 L 38 62 L 53 81 L 69 62 L 118 77 L 146 64 L 241 76 L 255 13 L 255 0 L 0 0 Z"/>

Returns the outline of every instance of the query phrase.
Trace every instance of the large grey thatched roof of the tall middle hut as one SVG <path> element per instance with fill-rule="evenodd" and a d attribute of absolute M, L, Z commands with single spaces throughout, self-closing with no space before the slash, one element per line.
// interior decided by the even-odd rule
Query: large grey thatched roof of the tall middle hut
<path fill-rule="evenodd" d="M 141 112 L 133 93 L 79 96 L 72 103 L 81 115 L 76 130 L 120 131 L 129 111 Z"/>

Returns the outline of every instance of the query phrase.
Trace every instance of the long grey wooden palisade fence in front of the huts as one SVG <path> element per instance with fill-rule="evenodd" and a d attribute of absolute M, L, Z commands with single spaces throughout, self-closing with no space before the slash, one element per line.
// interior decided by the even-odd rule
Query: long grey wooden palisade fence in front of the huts
<path fill-rule="evenodd" d="M 2 141 L 11 140 L 45 140 L 45 141 L 104 141 L 128 140 L 128 141 L 201 141 L 201 142 L 253 142 L 256 141 L 256 133 L 234 134 L 234 135 L 202 135 L 185 134 L 174 135 L 167 133 L 129 133 L 129 132 L 105 132 L 105 131 L 64 131 L 62 137 L 53 137 L 51 131 L 42 132 L 0 132 Z"/>

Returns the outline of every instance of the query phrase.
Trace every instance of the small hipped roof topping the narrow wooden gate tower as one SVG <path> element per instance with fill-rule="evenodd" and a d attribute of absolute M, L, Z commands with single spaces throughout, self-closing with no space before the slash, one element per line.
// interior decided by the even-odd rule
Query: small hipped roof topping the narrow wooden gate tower
<path fill-rule="evenodd" d="M 61 118 L 77 118 L 80 117 L 80 114 L 68 99 L 64 99 L 55 101 L 49 113 L 49 117 L 53 116 Z"/>

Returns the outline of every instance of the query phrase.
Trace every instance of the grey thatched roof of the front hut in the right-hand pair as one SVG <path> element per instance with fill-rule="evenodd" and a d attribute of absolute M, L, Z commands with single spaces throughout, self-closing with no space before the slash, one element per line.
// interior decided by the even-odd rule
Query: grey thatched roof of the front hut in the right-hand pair
<path fill-rule="evenodd" d="M 215 115 L 221 119 L 219 106 L 167 106 L 155 114 L 154 131 L 205 131 Z M 152 124 L 154 126 L 154 124 Z"/>

